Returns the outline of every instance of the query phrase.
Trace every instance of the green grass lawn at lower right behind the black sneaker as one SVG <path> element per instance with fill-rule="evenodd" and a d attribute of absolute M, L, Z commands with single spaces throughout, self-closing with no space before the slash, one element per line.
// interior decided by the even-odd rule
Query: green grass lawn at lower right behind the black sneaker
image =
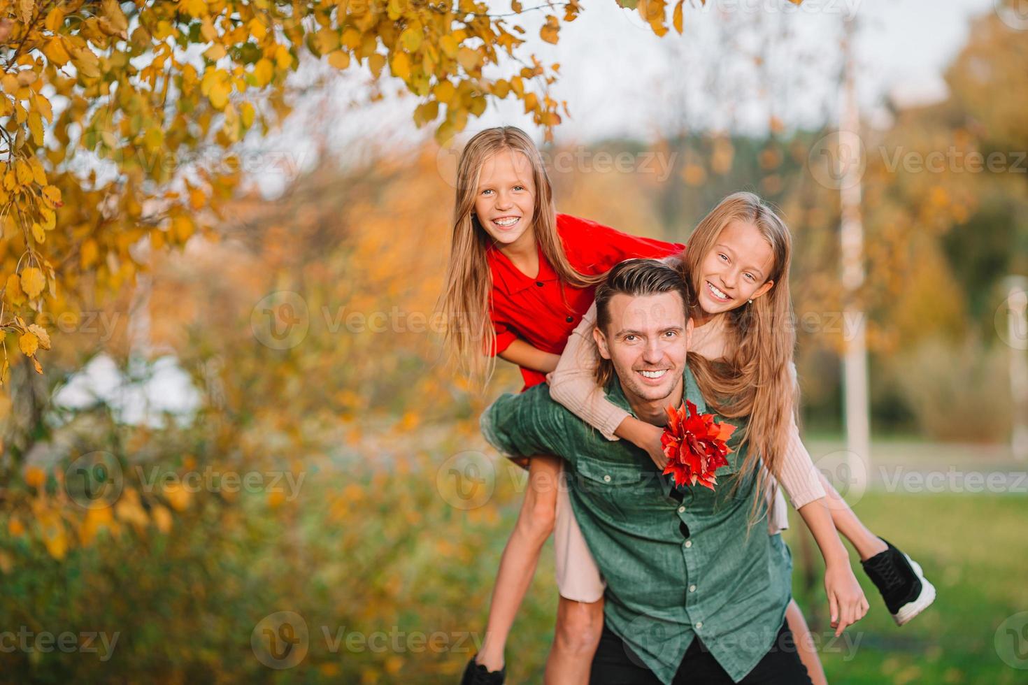
<path fill-rule="evenodd" d="M 992 684 L 1028 679 L 1028 672 L 1005 664 L 995 649 L 1000 623 L 1028 609 L 1028 499 L 868 493 L 854 510 L 872 531 L 918 561 L 939 595 L 924 613 L 898 627 L 851 555 L 871 611 L 848 629 L 861 638 L 855 656 L 847 661 L 838 651 L 822 651 L 830 681 Z M 786 540 L 799 567 L 798 540 L 806 531 L 797 526 L 794 522 Z M 820 568 L 816 593 L 804 592 L 799 573 L 794 573 L 794 588 L 808 620 L 823 630 Z"/>

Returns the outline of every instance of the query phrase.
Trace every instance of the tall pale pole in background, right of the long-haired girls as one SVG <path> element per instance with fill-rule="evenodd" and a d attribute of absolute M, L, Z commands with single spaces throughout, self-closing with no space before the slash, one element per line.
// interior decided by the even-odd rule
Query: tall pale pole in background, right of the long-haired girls
<path fill-rule="evenodd" d="M 856 61 L 853 38 L 856 20 L 843 20 L 843 72 L 839 158 L 848 160 L 842 179 L 840 205 L 842 226 L 840 248 L 843 288 L 843 392 L 846 419 L 846 450 L 849 459 L 864 459 L 861 466 L 851 464 L 849 472 L 858 481 L 852 487 L 862 492 L 871 470 L 871 426 L 868 417 L 868 346 L 865 313 L 857 303 L 864 284 L 864 225 L 860 218 L 860 176 L 864 174 L 864 145 L 860 143 L 860 114 L 856 102 Z M 843 149 L 847 147 L 849 149 Z"/>

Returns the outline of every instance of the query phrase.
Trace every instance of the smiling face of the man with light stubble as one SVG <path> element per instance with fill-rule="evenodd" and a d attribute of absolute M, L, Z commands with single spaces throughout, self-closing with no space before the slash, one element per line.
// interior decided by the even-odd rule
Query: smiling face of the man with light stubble
<path fill-rule="evenodd" d="M 693 321 L 677 293 L 633 297 L 619 293 L 608 303 L 605 331 L 593 331 L 599 353 L 611 359 L 631 402 L 670 396 L 685 373 Z"/>

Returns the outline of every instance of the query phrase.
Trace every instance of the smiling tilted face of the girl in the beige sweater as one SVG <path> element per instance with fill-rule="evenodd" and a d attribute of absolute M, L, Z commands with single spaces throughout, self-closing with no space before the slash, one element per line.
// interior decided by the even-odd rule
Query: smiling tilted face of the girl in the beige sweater
<path fill-rule="evenodd" d="M 708 314 L 741 307 L 771 290 L 768 275 L 774 253 L 760 229 L 748 222 L 730 221 L 703 258 L 697 299 Z"/>

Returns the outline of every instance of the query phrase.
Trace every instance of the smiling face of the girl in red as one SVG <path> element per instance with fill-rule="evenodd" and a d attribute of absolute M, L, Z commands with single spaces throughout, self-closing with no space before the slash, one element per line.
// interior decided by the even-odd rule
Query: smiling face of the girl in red
<path fill-rule="evenodd" d="M 515 150 L 486 157 L 475 193 L 475 215 L 485 232 L 501 248 L 522 237 L 534 240 L 535 207 L 536 184 L 528 158 Z"/>

